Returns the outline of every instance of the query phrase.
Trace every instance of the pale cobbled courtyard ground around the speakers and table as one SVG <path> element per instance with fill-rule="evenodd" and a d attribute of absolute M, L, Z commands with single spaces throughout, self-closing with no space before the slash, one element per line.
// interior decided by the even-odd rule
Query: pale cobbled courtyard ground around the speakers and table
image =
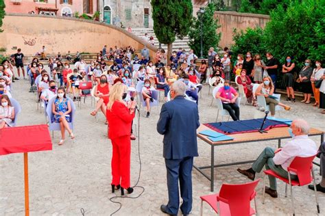
<path fill-rule="evenodd" d="M 29 83 L 24 80 L 13 84 L 12 96 L 21 104 L 19 125 L 44 124 L 44 111 L 36 109 L 36 95 L 29 93 Z M 217 108 L 210 107 L 211 96 L 208 86 L 204 86 L 200 98 L 200 122 L 214 122 Z M 285 98 L 285 96 L 282 96 Z M 300 100 L 298 100 L 300 101 Z M 284 102 L 285 103 L 285 102 Z M 291 111 L 282 111 L 282 118 L 304 118 L 311 126 L 325 131 L 325 116 L 320 109 L 300 102 L 287 103 Z M 76 103 L 77 105 L 77 103 Z M 161 103 L 160 103 L 161 107 Z M 110 215 L 119 204 L 110 202 L 114 196 L 110 189 L 110 159 L 112 146 L 107 139 L 107 126 L 104 116 L 99 113 L 98 122 L 90 115 L 91 98 L 86 99 L 82 108 L 77 107 L 75 118 L 75 139 L 66 139 L 63 146 L 58 146 L 60 132 L 53 138 L 53 150 L 29 153 L 29 200 L 30 215 Z M 156 132 L 158 109 L 154 107 L 150 118 L 140 117 L 140 137 L 132 141 L 131 182 L 136 183 L 139 175 L 138 140 L 142 161 L 139 185 L 145 187 L 144 193 L 137 199 L 117 198 L 122 203 L 121 210 L 115 215 L 164 215 L 160 204 L 167 203 L 167 183 L 165 161 L 163 159 L 163 136 Z M 263 116 L 250 105 L 241 105 L 241 119 Z M 317 145 L 320 137 L 313 137 Z M 277 141 L 265 141 L 216 148 L 215 163 L 230 163 L 256 159 L 265 146 L 276 147 Z M 200 157 L 195 158 L 196 165 L 210 163 L 210 148 L 203 141 L 198 141 Z M 250 164 L 218 167 L 215 169 L 215 192 L 222 183 L 245 183 L 248 178 L 239 174 L 237 167 L 247 168 Z M 319 167 L 315 166 L 317 183 L 320 181 Z M 209 174 L 209 171 L 206 170 Z M 257 178 L 263 178 L 258 174 Z M 262 204 L 261 182 L 258 193 L 257 209 L 259 215 L 289 215 L 291 200 L 285 198 L 285 185 L 278 183 L 279 198 L 266 195 Z M 0 215 L 24 215 L 23 154 L 9 154 L 0 157 Z M 136 187 L 129 197 L 136 197 L 142 189 Z M 193 210 L 191 215 L 200 215 L 200 195 L 210 194 L 210 183 L 196 170 L 193 170 Z M 307 187 L 294 187 L 295 208 L 297 215 L 316 215 L 315 196 Z M 116 193 L 119 195 L 119 193 Z M 325 195 L 317 193 L 321 215 L 325 215 Z M 253 203 L 252 203 L 253 204 Z M 178 214 L 180 215 L 180 213 Z M 204 215 L 215 215 L 204 204 Z"/>

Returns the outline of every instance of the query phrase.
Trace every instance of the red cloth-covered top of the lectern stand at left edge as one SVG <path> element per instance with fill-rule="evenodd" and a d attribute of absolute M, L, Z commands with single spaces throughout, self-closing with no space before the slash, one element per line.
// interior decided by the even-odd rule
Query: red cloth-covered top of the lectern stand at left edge
<path fill-rule="evenodd" d="M 0 129 L 0 155 L 52 150 L 47 124 Z"/>

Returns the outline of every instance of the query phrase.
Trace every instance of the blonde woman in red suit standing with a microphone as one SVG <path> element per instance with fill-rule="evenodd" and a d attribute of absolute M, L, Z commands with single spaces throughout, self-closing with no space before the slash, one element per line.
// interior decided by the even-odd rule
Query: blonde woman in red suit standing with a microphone
<path fill-rule="evenodd" d="M 130 127 L 134 118 L 136 102 L 128 105 L 123 101 L 128 87 L 122 83 L 113 85 L 110 89 L 110 100 L 107 105 L 106 117 L 110 128 L 108 137 L 112 141 L 112 193 L 121 185 L 121 195 L 124 189 L 133 192 L 130 187 L 130 157 L 131 140 Z"/>

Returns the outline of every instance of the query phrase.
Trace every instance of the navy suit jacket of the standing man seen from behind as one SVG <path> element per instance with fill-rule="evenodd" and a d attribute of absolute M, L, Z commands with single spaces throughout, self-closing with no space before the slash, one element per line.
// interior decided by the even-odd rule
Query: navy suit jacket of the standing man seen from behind
<path fill-rule="evenodd" d="M 182 96 L 165 103 L 160 111 L 157 131 L 164 136 L 163 157 L 197 157 L 196 129 L 200 126 L 197 105 Z"/>

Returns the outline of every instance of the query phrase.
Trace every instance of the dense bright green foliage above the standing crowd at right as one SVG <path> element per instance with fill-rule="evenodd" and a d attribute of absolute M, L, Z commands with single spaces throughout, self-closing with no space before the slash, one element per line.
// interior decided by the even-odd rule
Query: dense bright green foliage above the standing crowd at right
<path fill-rule="evenodd" d="M 265 29 L 247 29 L 234 33 L 234 53 L 270 51 L 285 62 L 286 56 L 301 66 L 304 59 L 325 59 L 325 1 L 292 0 L 287 10 L 282 7 L 271 12 Z"/>

